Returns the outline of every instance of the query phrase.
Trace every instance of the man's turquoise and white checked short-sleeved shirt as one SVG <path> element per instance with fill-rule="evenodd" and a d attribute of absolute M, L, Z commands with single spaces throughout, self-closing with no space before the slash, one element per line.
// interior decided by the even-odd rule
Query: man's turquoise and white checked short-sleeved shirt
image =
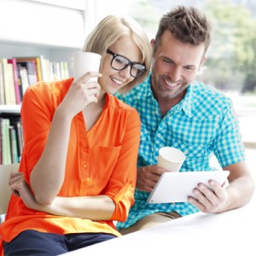
<path fill-rule="evenodd" d="M 151 75 L 126 96 L 116 94 L 140 114 L 142 128 L 137 166 L 155 165 L 159 149 L 166 146 L 179 148 L 186 154 L 180 172 L 216 170 L 209 163 L 212 154 L 222 167 L 245 159 L 238 120 L 228 97 L 211 86 L 193 82 L 183 100 L 162 118 L 150 79 Z M 124 223 L 118 222 L 117 229 L 128 228 L 155 212 L 176 211 L 181 216 L 198 212 L 188 202 L 148 204 L 148 195 L 148 192 L 136 190 L 129 217 Z"/>

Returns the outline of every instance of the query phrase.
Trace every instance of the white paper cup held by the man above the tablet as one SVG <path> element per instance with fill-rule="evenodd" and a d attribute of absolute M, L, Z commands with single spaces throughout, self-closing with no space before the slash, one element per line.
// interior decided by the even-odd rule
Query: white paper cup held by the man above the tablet
<path fill-rule="evenodd" d="M 179 172 L 186 155 L 177 148 L 164 147 L 159 150 L 157 166 L 165 168 L 169 172 Z"/>

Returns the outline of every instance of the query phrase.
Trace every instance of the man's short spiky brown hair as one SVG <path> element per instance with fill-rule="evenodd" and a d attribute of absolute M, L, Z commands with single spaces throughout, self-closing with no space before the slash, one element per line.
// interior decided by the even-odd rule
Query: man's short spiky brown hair
<path fill-rule="evenodd" d="M 211 24 L 206 15 L 194 7 L 177 6 L 160 20 L 155 36 L 155 49 L 160 45 L 161 36 L 166 30 L 174 38 L 193 45 L 205 44 L 205 52 L 211 44 Z"/>

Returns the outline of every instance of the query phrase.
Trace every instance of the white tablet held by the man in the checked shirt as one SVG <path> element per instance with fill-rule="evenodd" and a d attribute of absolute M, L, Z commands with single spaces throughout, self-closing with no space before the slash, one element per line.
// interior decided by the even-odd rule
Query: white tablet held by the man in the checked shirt
<path fill-rule="evenodd" d="M 198 183 L 208 186 L 212 179 L 223 184 L 229 175 L 230 171 L 165 172 L 149 195 L 148 203 L 186 202 L 189 195 L 195 197 L 192 190 Z"/>

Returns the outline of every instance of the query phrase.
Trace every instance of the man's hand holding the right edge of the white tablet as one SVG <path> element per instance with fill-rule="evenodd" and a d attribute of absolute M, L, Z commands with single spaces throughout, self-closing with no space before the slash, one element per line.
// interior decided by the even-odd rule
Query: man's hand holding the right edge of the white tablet
<path fill-rule="evenodd" d="M 224 212 L 228 201 L 228 193 L 215 181 L 209 181 L 209 189 L 205 184 L 198 184 L 193 190 L 195 197 L 189 196 L 189 202 L 197 207 L 201 212 L 218 213 Z"/>

